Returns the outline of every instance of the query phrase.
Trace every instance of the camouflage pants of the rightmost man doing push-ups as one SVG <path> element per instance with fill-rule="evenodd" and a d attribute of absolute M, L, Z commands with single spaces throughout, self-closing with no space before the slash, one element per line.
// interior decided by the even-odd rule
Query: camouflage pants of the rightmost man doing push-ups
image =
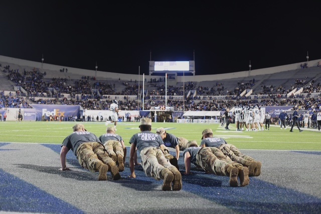
<path fill-rule="evenodd" d="M 248 166 L 249 161 L 254 160 L 252 157 L 242 154 L 241 151 L 233 144 L 222 144 L 219 146 L 219 149 L 233 161 L 245 166 Z"/>

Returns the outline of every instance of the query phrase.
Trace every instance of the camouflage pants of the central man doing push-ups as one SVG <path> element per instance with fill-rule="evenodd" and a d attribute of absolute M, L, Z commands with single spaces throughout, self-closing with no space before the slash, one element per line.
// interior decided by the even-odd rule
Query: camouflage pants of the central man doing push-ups
<path fill-rule="evenodd" d="M 176 169 L 172 165 L 168 158 L 165 157 L 161 148 L 146 147 L 140 151 L 141 165 L 148 177 L 152 177 L 156 180 L 164 179 L 162 170 L 168 168 L 171 170 Z"/>

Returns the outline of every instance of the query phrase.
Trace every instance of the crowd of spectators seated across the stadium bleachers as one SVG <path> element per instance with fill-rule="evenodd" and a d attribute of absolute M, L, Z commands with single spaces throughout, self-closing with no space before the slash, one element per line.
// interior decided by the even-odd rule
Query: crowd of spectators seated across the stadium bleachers
<path fill-rule="evenodd" d="M 80 80 L 67 79 L 67 78 L 52 78 L 44 80 L 44 74 L 37 69 L 26 70 L 20 72 L 19 69 L 11 69 L 9 65 L 5 66 L 5 71 L 8 72 L 8 79 L 15 82 L 17 86 L 23 87 L 29 94 L 30 101 L 33 103 L 41 104 L 77 104 L 81 105 L 84 109 L 109 109 L 113 95 L 124 95 L 122 100 L 119 100 L 120 109 L 124 110 L 137 110 L 138 100 L 129 100 L 128 95 L 138 94 L 137 81 L 122 82 L 125 88 L 121 91 L 117 91 L 119 83 L 109 83 L 107 81 L 95 81 L 89 76 L 83 76 Z M 67 71 L 67 70 L 66 70 Z M 89 80 L 90 79 L 90 80 Z M 185 82 L 183 86 L 168 86 L 168 100 L 165 101 L 166 88 L 162 82 L 162 78 L 156 81 L 156 78 L 150 79 L 149 87 L 155 87 L 148 91 L 144 97 L 144 109 L 148 110 L 152 107 L 165 105 L 173 106 L 174 110 L 224 110 L 226 106 L 234 106 L 236 101 L 239 103 L 257 103 L 260 105 L 293 105 L 298 102 L 304 109 L 308 109 L 311 103 L 315 102 L 315 98 L 309 96 L 312 92 L 321 92 L 321 85 L 319 82 L 315 83 L 315 79 L 308 81 L 305 79 L 296 78 L 294 84 L 289 88 L 284 88 L 282 85 L 275 87 L 270 85 L 261 85 L 261 91 L 254 96 L 254 99 L 250 99 L 246 96 L 241 96 L 240 93 L 246 89 L 251 89 L 255 85 L 255 79 L 248 82 L 237 82 L 234 90 L 226 89 L 223 83 L 216 82 L 212 87 L 208 86 L 196 86 L 197 82 L 189 81 Z M 289 97 L 286 94 L 293 90 L 295 87 L 303 87 L 303 93 L 307 95 L 297 94 Z M 49 95 L 48 88 L 55 88 L 57 93 Z M 98 92 L 95 92 L 95 90 Z M 140 85 L 142 89 L 142 85 Z M 185 91 L 184 91 L 185 89 Z M 226 93 L 224 91 L 226 89 Z M 191 94 L 186 97 L 190 90 L 196 90 L 196 96 Z M 71 98 L 64 97 L 62 93 L 70 94 Z M 145 91 L 145 93 L 147 93 Z M 185 101 L 183 99 L 176 99 L 173 96 L 183 96 L 185 93 Z M 76 95 L 79 94 L 79 95 Z M 106 95 L 109 94 L 109 95 Z M 215 95 L 224 95 L 224 98 L 218 100 Z M 264 94 L 264 95 L 263 95 Z M 3 107 L 31 107 L 28 100 L 25 100 L 24 94 L 21 91 L 16 91 L 15 94 L 4 95 L 1 93 L 0 106 Z M 126 97 L 127 95 L 127 97 Z M 47 96 L 47 97 L 46 97 Z M 48 98 L 50 96 L 50 98 Z M 38 97 L 38 98 L 36 98 Z M 39 98 L 41 97 L 41 98 Z M 183 103 L 185 106 L 183 106 Z M 140 100 L 140 107 L 141 100 Z"/>

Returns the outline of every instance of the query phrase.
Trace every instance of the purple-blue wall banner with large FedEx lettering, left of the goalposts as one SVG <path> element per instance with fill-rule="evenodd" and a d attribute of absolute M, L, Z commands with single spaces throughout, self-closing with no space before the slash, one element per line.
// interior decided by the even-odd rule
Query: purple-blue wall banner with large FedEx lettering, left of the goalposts
<path fill-rule="evenodd" d="M 53 104 L 31 104 L 36 109 L 36 120 L 41 121 L 42 116 L 49 118 L 50 115 L 63 117 L 79 117 L 80 105 L 53 105 Z"/>

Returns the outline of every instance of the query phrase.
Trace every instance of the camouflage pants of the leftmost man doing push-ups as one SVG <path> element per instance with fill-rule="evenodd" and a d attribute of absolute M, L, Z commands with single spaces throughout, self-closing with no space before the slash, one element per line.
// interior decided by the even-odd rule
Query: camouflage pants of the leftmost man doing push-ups
<path fill-rule="evenodd" d="M 104 151 L 104 146 L 99 142 L 82 143 L 76 153 L 80 165 L 91 172 L 98 171 L 97 167 L 101 162 L 107 164 L 109 168 L 115 165 L 115 162 Z"/>

